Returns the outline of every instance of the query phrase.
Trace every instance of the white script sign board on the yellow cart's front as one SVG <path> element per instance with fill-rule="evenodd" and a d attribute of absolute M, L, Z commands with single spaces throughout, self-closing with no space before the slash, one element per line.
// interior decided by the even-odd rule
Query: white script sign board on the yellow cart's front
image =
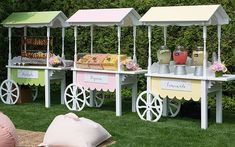
<path fill-rule="evenodd" d="M 192 91 L 192 82 L 190 80 L 161 79 L 161 89 Z"/>

